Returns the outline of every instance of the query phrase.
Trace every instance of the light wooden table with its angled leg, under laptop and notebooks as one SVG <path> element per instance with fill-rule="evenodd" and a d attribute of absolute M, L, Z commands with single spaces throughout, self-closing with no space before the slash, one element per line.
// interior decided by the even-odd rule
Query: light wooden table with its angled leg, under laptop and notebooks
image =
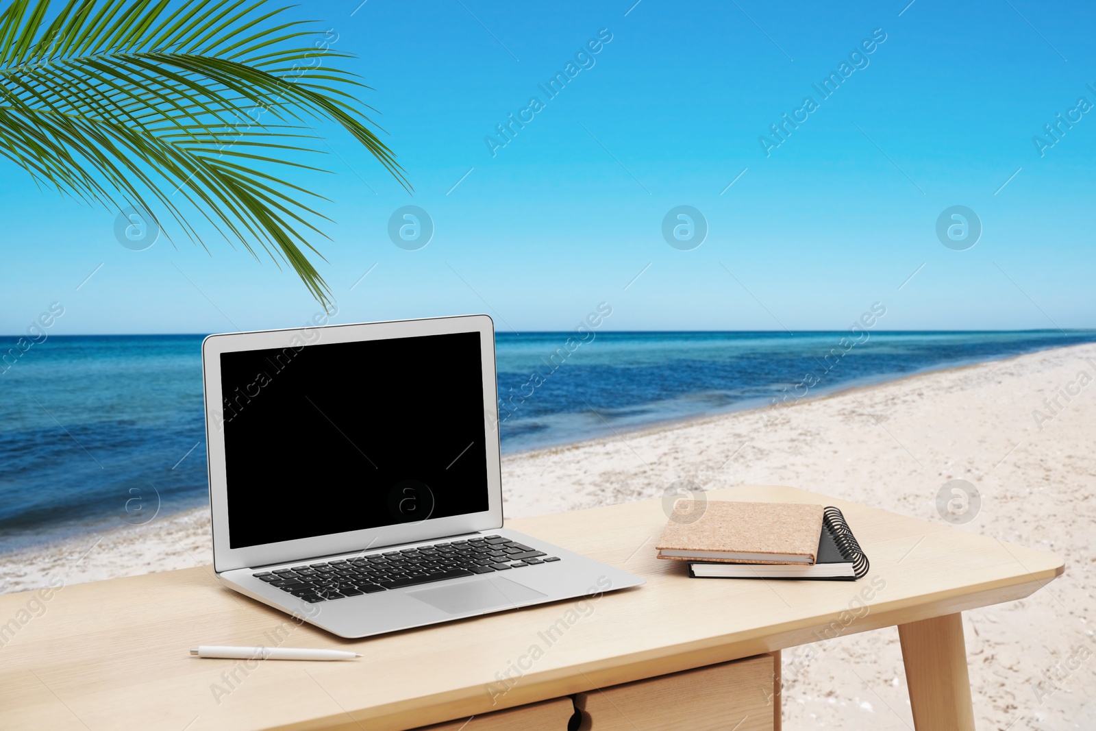
<path fill-rule="evenodd" d="M 221 589 L 209 567 L 64 586 L 45 601 L 9 594 L 0 596 L 0 728 L 409 729 L 898 625 L 917 729 L 972 730 L 959 613 L 1023 598 L 1063 571 L 1052 553 L 792 488 L 708 499 L 837 505 L 871 573 L 689 580 L 680 562 L 654 558 L 666 516 L 653 500 L 507 523 L 641 574 L 643 586 L 361 641 Z M 543 632 L 561 618 L 566 635 L 548 644 Z M 249 670 L 189 654 L 199 643 L 275 642 L 365 656 Z M 533 646 L 543 652 L 500 686 Z"/>

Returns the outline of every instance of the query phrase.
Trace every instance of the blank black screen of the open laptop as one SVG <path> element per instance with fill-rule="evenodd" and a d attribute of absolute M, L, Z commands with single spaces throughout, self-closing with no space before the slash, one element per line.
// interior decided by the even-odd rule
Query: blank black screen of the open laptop
<path fill-rule="evenodd" d="M 487 511 L 480 352 L 460 332 L 222 353 L 231 548 Z"/>

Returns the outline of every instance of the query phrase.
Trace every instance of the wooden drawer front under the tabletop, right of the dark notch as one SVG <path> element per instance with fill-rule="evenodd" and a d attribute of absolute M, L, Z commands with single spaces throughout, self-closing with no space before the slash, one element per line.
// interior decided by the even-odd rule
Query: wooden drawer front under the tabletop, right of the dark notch
<path fill-rule="evenodd" d="M 580 693 L 581 731 L 779 731 L 779 655 Z"/>

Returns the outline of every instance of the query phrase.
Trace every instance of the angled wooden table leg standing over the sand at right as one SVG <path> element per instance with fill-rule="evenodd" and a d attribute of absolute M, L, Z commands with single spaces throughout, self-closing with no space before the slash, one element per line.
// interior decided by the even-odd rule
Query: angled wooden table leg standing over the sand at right
<path fill-rule="evenodd" d="M 917 731 L 974 731 L 959 613 L 898 626 Z"/>

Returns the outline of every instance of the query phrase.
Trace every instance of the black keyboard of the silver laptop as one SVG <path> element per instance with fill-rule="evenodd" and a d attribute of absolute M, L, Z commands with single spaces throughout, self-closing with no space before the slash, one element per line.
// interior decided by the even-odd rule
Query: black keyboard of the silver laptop
<path fill-rule="evenodd" d="M 252 575 L 315 604 L 558 560 L 502 536 L 477 536 Z"/>

